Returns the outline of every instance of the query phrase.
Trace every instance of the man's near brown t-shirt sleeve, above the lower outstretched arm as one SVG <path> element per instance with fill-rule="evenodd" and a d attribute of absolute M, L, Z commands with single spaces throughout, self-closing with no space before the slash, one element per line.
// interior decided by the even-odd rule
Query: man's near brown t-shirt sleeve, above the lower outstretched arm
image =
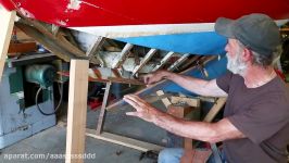
<path fill-rule="evenodd" d="M 248 111 L 227 117 L 254 143 L 268 139 L 289 122 L 289 110 L 284 96 L 263 99 Z"/>

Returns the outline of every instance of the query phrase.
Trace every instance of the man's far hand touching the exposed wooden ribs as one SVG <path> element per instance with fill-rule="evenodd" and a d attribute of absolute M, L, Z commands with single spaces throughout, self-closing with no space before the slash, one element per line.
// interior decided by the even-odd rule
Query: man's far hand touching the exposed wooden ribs
<path fill-rule="evenodd" d="M 169 72 L 167 71 L 156 71 L 154 73 L 148 74 L 142 76 L 142 82 L 146 85 L 151 85 L 151 84 L 155 84 L 160 80 L 162 80 L 163 78 L 165 78 L 167 75 L 169 74 Z"/>

